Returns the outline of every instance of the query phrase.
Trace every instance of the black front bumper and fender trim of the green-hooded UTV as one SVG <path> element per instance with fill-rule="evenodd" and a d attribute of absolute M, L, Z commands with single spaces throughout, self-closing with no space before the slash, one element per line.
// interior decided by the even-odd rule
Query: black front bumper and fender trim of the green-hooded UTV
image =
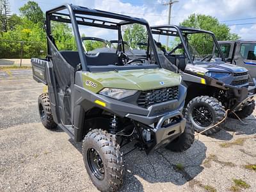
<path fill-rule="evenodd" d="M 180 87 L 178 100 L 176 99 L 155 104 L 149 108 L 141 108 L 134 104 L 111 99 L 104 95 L 92 93 L 79 86 L 74 86 L 74 90 L 77 92 L 75 94 L 77 97 L 77 99 L 75 98 L 75 100 L 77 100 L 75 109 L 78 108 L 78 106 L 81 106 L 84 112 L 86 112 L 94 107 L 102 108 L 109 111 L 109 113 L 131 119 L 141 131 L 143 131 L 143 129 L 149 130 L 150 133 L 152 133 L 152 141 L 150 143 L 145 142 L 147 145 L 147 153 L 162 145 L 170 143 L 170 141 L 174 140 L 184 132 L 186 124 L 186 120 L 182 115 L 184 99 L 186 97 L 186 88 L 184 86 Z M 104 103 L 104 106 L 97 104 L 95 102 L 97 100 Z M 159 113 L 159 110 L 162 111 L 163 109 L 166 109 L 166 112 Z M 76 114 L 76 110 L 75 115 L 79 116 L 79 112 Z M 173 118 L 175 121 L 173 120 L 171 124 L 163 127 L 164 120 L 168 118 Z M 79 119 L 74 120 L 74 127 L 77 130 L 76 132 L 78 132 L 80 128 Z"/>

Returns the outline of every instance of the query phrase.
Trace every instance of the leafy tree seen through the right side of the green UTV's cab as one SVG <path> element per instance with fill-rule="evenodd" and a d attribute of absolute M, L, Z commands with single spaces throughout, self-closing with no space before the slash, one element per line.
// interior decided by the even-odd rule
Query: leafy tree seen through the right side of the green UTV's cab
<path fill-rule="evenodd" d="M 147 30 L 141 24 L 131 24 L 124 29 L 124 40 L 132 49 L 138 47 L 138 43 L 147 43 Z"/>

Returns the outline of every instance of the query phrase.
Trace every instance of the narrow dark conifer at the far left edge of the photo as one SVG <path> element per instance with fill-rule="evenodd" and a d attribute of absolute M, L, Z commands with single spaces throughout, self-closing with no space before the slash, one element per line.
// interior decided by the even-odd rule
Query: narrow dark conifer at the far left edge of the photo
<path fill-rule="evenodd" d="M 10 16 L 10 3 L 8 0 L 0 0 L 0 24 L 1 32 L 8 31 L 8 17 Z"/>

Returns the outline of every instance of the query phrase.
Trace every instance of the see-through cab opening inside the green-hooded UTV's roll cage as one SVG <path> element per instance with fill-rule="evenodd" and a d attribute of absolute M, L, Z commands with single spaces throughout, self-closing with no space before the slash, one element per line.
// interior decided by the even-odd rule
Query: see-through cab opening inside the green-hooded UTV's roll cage
<path fill-rule="evenodd" d="M 86 13 L 87 9 L 84 10 Z M 79 64 L 90 71 L 93 68 L 102 71 L 100 67 L 103 71 L 158 67 L 156 47 L 149 36 L 147 22 L 123 15 L 104 16 L 105 12 L 103 15 L 100 12 L 100 17 L 94 13 L 93 16 L 84 14 L 84 17 L 83 12 L 74 12 L 76 28 L 70 23 L 72 19 L 67 10 L 61 10 L 51 17 L 52 30 L 48 34 L 52 45 L 74 68 Z M 140 42 L 147 42 L 147 46 L 140 54 L 134 54 Z"/>

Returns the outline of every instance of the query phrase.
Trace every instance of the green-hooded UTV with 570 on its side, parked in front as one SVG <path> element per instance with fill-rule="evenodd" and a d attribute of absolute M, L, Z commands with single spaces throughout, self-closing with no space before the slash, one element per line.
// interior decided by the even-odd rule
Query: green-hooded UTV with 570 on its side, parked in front
<path fill-rule="evenodd" d="M 60 34 L 51 28 L 53 22 L 71 24 L 75 50 L 58 47 Z M 122 28 L 130 24 L 147 30 L 144 59 L 130 60 L 125 54 Z M 116 35 L 116 52 L 88 54 L 81 31 L 103 29 Z M 46 32 L 47 58 L 31 59 L 33 78 L 48 87 L 38 98 L 42 124 L 47 129 L 60 127 L 74 141 L 83 142 L 86 170 L 100 191 L 122 186 L 124 156 L 136 148 L 148 154 L 159 147 L 191 147 L 194 131 L 182 116 L 186 88 L 179 74 L 160 67 L 146 20 L 65 4 L 46 12 Z M 120 148 L 131 142 L 134 149 L 122 154 Z"/>

